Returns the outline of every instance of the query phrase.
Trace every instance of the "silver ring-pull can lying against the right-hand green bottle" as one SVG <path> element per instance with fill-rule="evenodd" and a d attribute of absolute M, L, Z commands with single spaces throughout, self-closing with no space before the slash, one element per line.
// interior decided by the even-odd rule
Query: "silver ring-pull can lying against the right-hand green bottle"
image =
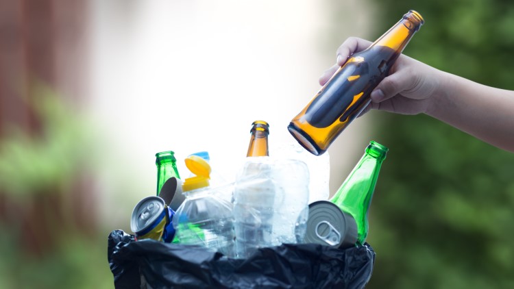
<path fill-rule="evenodd" d="M 309 204 L 304 242 L 336 248 L 352 247 L 357 242 L 357 223 L 334 203 L 315 201 Z"/>

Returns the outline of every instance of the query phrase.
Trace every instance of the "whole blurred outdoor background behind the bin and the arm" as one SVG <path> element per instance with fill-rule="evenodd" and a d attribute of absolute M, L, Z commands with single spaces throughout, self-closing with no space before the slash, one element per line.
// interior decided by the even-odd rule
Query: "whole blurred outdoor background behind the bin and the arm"
<path fill-rule="evenodd" d="M 291 142 L 341 42 L 409 9 L 426 23 L 405 54 L 514 89 L 511 1 L 0 0 L 0 288 L 113 288 L 107 236 L 155 193 L 155 153 L 187 175 L 207 150 L 231 179 L 253 121 Z M 371 139 L 390 151 L 367 288 L 513 288 L 513 153 L 372 111 L 328 150 L 332 194 Z"/>

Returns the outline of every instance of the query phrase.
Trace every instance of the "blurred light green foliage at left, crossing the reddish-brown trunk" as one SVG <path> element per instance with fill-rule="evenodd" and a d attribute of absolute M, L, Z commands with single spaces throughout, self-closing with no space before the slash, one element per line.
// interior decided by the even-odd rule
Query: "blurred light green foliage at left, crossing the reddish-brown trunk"
<path fill-rule="evenodd" d="M 25 101 L 40 117 L 41 133 L 29 134 L 11 126 L 0 142 L 0 188 L 21 201 L 44 192 L 38 188 L 70 186 L 88 158 L 84 120 L 49 87 L 34 86 L 36 97 Z"/>

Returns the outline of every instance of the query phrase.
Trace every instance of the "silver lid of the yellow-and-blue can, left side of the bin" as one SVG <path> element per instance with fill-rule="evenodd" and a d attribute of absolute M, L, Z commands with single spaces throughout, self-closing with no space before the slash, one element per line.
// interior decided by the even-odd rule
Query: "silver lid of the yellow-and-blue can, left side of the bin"
<path fill-rule="evenodd" d="M 132 211 L 130 218 L 130 229 L 135 234 L 144 231 L 152 225 L 164 210 L 164 200 L 160 197 L 151 196 L 139 201 Z"/>

